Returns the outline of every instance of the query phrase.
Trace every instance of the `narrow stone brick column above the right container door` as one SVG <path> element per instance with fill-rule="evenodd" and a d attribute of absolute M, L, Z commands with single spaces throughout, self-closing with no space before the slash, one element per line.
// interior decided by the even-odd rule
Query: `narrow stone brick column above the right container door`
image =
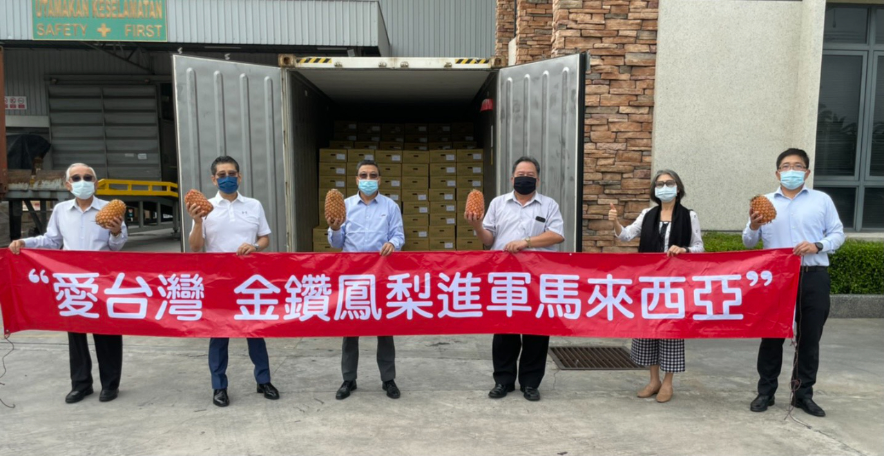
<path fill-rule="evenodd" d="M 552 0 L 516 0 L 515 62 L 525 64 L 552 55 Z"/>

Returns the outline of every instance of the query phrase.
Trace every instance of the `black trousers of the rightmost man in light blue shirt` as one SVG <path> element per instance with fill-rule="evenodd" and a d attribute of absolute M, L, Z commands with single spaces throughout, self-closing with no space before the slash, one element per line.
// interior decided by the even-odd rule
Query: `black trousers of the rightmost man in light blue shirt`
<path fill-rule="evenodd" d="M 801 274 L 796 302 L 797 348 L 792 382 L 797 399 L 812 399 L 813 384 L 819 368 L 819 339 L 823 335 L 829 313 L 827 270 L 810 270 Z M 782 338 L 762 338 L 758 347 L 758 394 L 773 396 L 782 367 Z"/>

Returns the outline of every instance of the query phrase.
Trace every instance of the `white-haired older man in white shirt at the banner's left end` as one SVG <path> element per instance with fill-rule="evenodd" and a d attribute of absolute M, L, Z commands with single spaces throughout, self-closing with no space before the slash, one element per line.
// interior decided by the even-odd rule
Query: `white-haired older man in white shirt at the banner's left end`
<path fill-rule="evenodd" d="M 95 198 L 95 170 L 83 163 L 73 163 L 65 172 L 65 188 L 74 199 L 56 204 L 52 210 L 46 234 L 34 238 L 13 240 L 9 245 L 13 254 L 22 248 L 53 248 L 63 250 L 112 250 L 126 244 L 126 224 L 118 217 L 109 228 L 95 224 L 95 214 L 108 201 Z M 123 336 L 93 334 L 95 355 L 102 391 L 98 400 L 117 399 L 119 378 L 123 369 Z M 92 358 L 86 334 L 68 332 L 68 352 L 71 361 L 71 392 L 65 402 L 73 404 L 92 394 Z"/>

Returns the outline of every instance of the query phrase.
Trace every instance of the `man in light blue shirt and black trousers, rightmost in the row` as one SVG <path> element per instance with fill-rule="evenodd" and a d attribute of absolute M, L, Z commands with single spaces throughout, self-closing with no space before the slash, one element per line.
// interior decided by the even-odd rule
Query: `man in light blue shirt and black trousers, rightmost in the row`
<path fill-rule="evenodd" d="M 789 148 L 777 157 L 780 188 L 766 194 L 776 218 L 761 224 L 761 214 L 751 212 L 743 230 L 743 245 L 793 249 L 801 256 L 801 282 L 796 303 L 796 364 L 792 371 L 795 397 L 792 405 L 814 416 L 826 412 L 813 401 L 813 384 L 819 368 L 819 339 L 829 313 L 828 255 L 844 243 L 844 227 L 832 198 L 804 185 L 811 175 L 811 160 L 804 150 Z M 782 367 L 782 338 L 763 338 L 758 348 L 758 397 L 750 410 L 764 412 L 773 406 L 777 377 Z"/>

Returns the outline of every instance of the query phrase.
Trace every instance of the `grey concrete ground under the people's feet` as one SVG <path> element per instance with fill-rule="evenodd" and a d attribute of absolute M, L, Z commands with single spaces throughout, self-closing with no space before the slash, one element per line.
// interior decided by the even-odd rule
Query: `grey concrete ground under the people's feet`
<path fill-rule="evenodd" d="M 133 239 L 131 249 L 159 249 Z M 168 239 L 167 239 L 168 240 Z M 163 250 L 174 250 L 169 242 Z M 281 399 L 255 394 L 244 340 L 231 344 L 231 406 L 211 404 L 208 340 L 125 338 L 119 398 L 97 390 L 65 404 L 64 333 L 11 337 L 0 399 L 0 455 L 48 454 L 882 454 L 884 320 L 831 319 L 815 399 L 828 416 L 766 413 L 755 396 L 757 339 L 690 340 L 688 371 L 667 404 L 637 399 L 644 371 L 567 371 L 547 363 L 543 399 L 488 399 L 491 336 L 400 337 L 397 384 L 381 391 L 375 341 L 362 339 L 359 389 L 334 399 L 338 338 L 268 340 Z M 552 346 L 628 346 L 627 339 L 552 338 Z M 7 344 L 0 341 L 0 353 Z M 784 359 L 791 359 L 786 348 Z M 784 366 L 781 380 L 786 380 Z M 97 366 L 93 375 L 96 382 Z M 95 385 L 99 387 L 98 384 Z"/>

